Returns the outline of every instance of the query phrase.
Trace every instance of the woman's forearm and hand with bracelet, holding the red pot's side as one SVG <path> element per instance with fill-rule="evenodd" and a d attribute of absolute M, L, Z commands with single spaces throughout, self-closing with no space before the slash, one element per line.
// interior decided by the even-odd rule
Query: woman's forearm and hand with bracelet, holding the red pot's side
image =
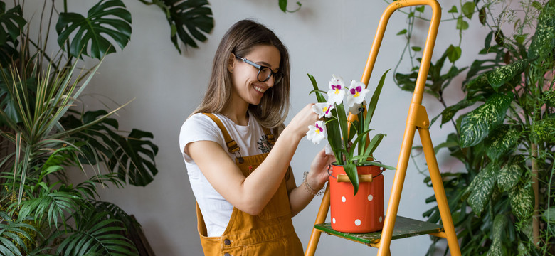
<path fill-rule="evenodd" d="M 326 181 L 329 179 L 329 175 L 327 174 L 327 168 L 329 164 L 335 161 L 334 156 L 327 155 L 325 150 L 319 151 L 318 154 L 312 160 L 312 164 L 310 164 L 310 171 L 308 172 L 307 179 L 304 182 L 307 182 L 310 188 L 313 188 L 319 191 L 321 188 L 324 187 Z M 314 194 L 317 191 L 310 191 L 310 188 L 306 188 L 307 186 L 304 183 L 301 183 L 300 186 L 297 187 L 295 184 L 295 178 L 291 172 L 289 179 L 287 180 L 287 191 L 289 191 L 289 203 L 291 207 L 291 213 L 293 216 L 300 213 L 302 209 L 304 209 L 312 198 L 314 198 Z"/>

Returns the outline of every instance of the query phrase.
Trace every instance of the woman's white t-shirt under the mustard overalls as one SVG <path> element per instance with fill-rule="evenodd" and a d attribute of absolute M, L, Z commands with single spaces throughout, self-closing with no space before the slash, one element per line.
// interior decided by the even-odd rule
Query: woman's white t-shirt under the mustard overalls
<path fill-rule="evenodd" d="M 231 138 L 237 142 L 241 156 L 253 156 L 269 151 L 270 147 L 265 139 L 263 139 L 263 129 L 252 115 L 248 119 L 247 126 L 235 124 L 235 122 L 223 114 L 215 115 L 221 120 L 223 126 L 226 127 Z M 217 142 L 228 152 L 226 142 L 223 139 L 223 133 L 218 128 L 218 125 L 210 117 L 207 117 L 206 114 L 194 114 L 189 119 L 186 119 L 179 133 L 179 149 L 181 154 L 183 154 L 191 188 L 197 203 L 199 203 L 199 208 L 201 208 L 206 230 L 208 231 L 207 235 L 218 237 L 223 234 L 223 231 L 228 226 L 233 206 L 208 183 L 208 180 L 202 174 L 199 166 L 191 159 L 191 156 L 184 153 L 185 146 L 188 143 L 198 141 Z M 206 152 L 206 154 L 210 154 L 210 152 Z M 236 156 L 229 152 L 228 154 L 235 161 Z"/>

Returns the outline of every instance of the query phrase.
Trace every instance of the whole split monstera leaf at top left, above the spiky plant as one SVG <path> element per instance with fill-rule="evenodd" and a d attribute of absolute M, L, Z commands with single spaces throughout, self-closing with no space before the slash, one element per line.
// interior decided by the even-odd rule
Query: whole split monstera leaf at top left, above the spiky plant
<path fill-rule="evenodd" d="M 81 14 L 62 13 L 56 23 L 58 44 L 63 47 L 66 41 L 70 41 L 70 48 L 65 50 L 71 55 L 77 57 L 81 53 L 101 59 L 105 54 L 114 53 L 115 48 L 105 36 L 112 38 L 122 49 L 127 45 L 131 38 L 131 14 L 121 0 L 99 1 L 87 15 L 85 18 Z"/>

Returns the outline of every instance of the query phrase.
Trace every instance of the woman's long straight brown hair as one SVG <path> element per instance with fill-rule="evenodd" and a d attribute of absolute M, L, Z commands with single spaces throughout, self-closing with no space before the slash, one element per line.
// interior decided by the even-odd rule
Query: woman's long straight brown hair
<path fill-rule="evenodd" d="M 289 112 L 290 65 L 289 53 L 275 33 L 264 25 L 251 20 L 235 23 L 223 36 L 212 63 L 212 75 L 208 89 L 199 107 L 193 112 L 220 113 L 231 100 L 231 73 L 228 72 L 228 59 L 231 53 L 245 56 L 253 46 L 275 46 L 280 51 L 280 72 L 282 80 L 271 87 L 258 105 L 249 105 L 248 110 L 263 127 L 280 126 Z"/>

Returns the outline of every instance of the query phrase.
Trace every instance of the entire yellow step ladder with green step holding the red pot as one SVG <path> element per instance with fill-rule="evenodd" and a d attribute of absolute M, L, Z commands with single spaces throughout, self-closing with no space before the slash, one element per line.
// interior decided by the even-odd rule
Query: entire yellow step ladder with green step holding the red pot
<path fill-rule="evenodd" d="M 447 197 L 445 196 L 445 189 L 443 188 L 443 182 L 438 167 L 438 161 L 435 159 L 435 152 L 430 138 L 430 131 L 428 130 L 430 125 L 428 114 L 426 113 L 425 107 L 421 105 L 425 81 L 428 77 L 428 70 L 430 68 L 433 46 L 435 45 L 435 38 L 438 35 L 438 27 L 441 19 L 441 6 L 438 1 L 399 0 L 389 4 L 380 18 L 378 30 L 376 31 L 376 36 L 374 37 L 374 42 L 372 43 L 370 54 L 368 60 L 366 61 L 366 67 L 364 68 L 364 74 L 362 75 L 361 82 L 368 85 L 372 69 L 374 68 L 374 63 L 376 63 L 376 56 L 378 55 L 381 41 L 384 38 L 387 22 L 391 17 L 391 14 L 393 14 L 393 11 L 403 7 L 421 5 L 428 5 L 432 7 L 432 19 L 430 21 L 430 28 L 428 29 L 428 37 L 426 38 L 424 46 L 420 70 L 418 70 L 418 78 L 416 79 L 413 98 L 408 109 L 403 143 L 401 144 L 397 170 L 393 180 L 393 187 L 391 188 L 391 196 L 387 207 L 384 228 L 381 232 L 366 234 L 341 233 L 332 230 L 329 223 L 324 223 L 329 211 L 329 186 L 327 186 L 324 198 L 322 198 L 322 203 L 320 204 L 320 208 L 318 210 L 314 228 L 312 228 L 312 234 L 310 235 L 305 256 L 314 255 L 322 232 L 329 235 L 337 235 L 341 238 L 346 238 L 355 242 L 361 242 L 371 247 L 377 247 L 378 255 L 380 256 L 391 255 L 389 252 L 389 245 L 391 245 L 392 239 L 408 238 L 415 235 L 435 235 L 440 238 L 447 238 L 451 255 L 460 256 L 460 248 L 457 240 L 457 234 L 455 233 L 455 227 L 453 225 L 453 218 L 451 218 Z M 349 115 L 349 119 L 354 118 L 356 117 Z M 409 157 L 411 156 L 411 149 L 416 130 L 418 130 L 418 134 L 420 134 L 443 226 L 435 223 L 427 223 L 420 220 L 412 220 L 397 216 L 399 201 L 401 200 L 401 191 L 403 190 L 406 169 Z"/>

